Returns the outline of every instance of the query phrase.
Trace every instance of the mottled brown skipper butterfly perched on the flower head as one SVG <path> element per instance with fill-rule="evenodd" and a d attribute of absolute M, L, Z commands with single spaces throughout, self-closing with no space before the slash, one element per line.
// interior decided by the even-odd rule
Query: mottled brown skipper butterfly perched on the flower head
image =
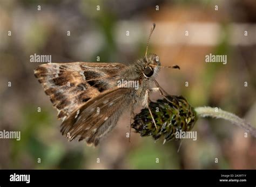
<path fill-rule="evenodd" d="M 122 63 L 47 63 L 34 70 L 58 110 L 57 117 L 63 121 L 60 131 L 66 138 L 70 141 L 85 139 L 88 145 L 97 146 L 116 126 L 124 111 L 130 110 L 132 119 L 135 107 L 149 108 L 150 91 L 158 90 L 164 96 L 155 79 L 163 66 L 156 54 L 147 55 L 155 27 L 155 24 L 151 27 L 145 56 L 129 66 Z M 179 69 L 177 65 L 169 68 Z M 154 83 L 156 88 L 152 87 Z M 149 111 L 152 116 L 150 108 Z"/>

